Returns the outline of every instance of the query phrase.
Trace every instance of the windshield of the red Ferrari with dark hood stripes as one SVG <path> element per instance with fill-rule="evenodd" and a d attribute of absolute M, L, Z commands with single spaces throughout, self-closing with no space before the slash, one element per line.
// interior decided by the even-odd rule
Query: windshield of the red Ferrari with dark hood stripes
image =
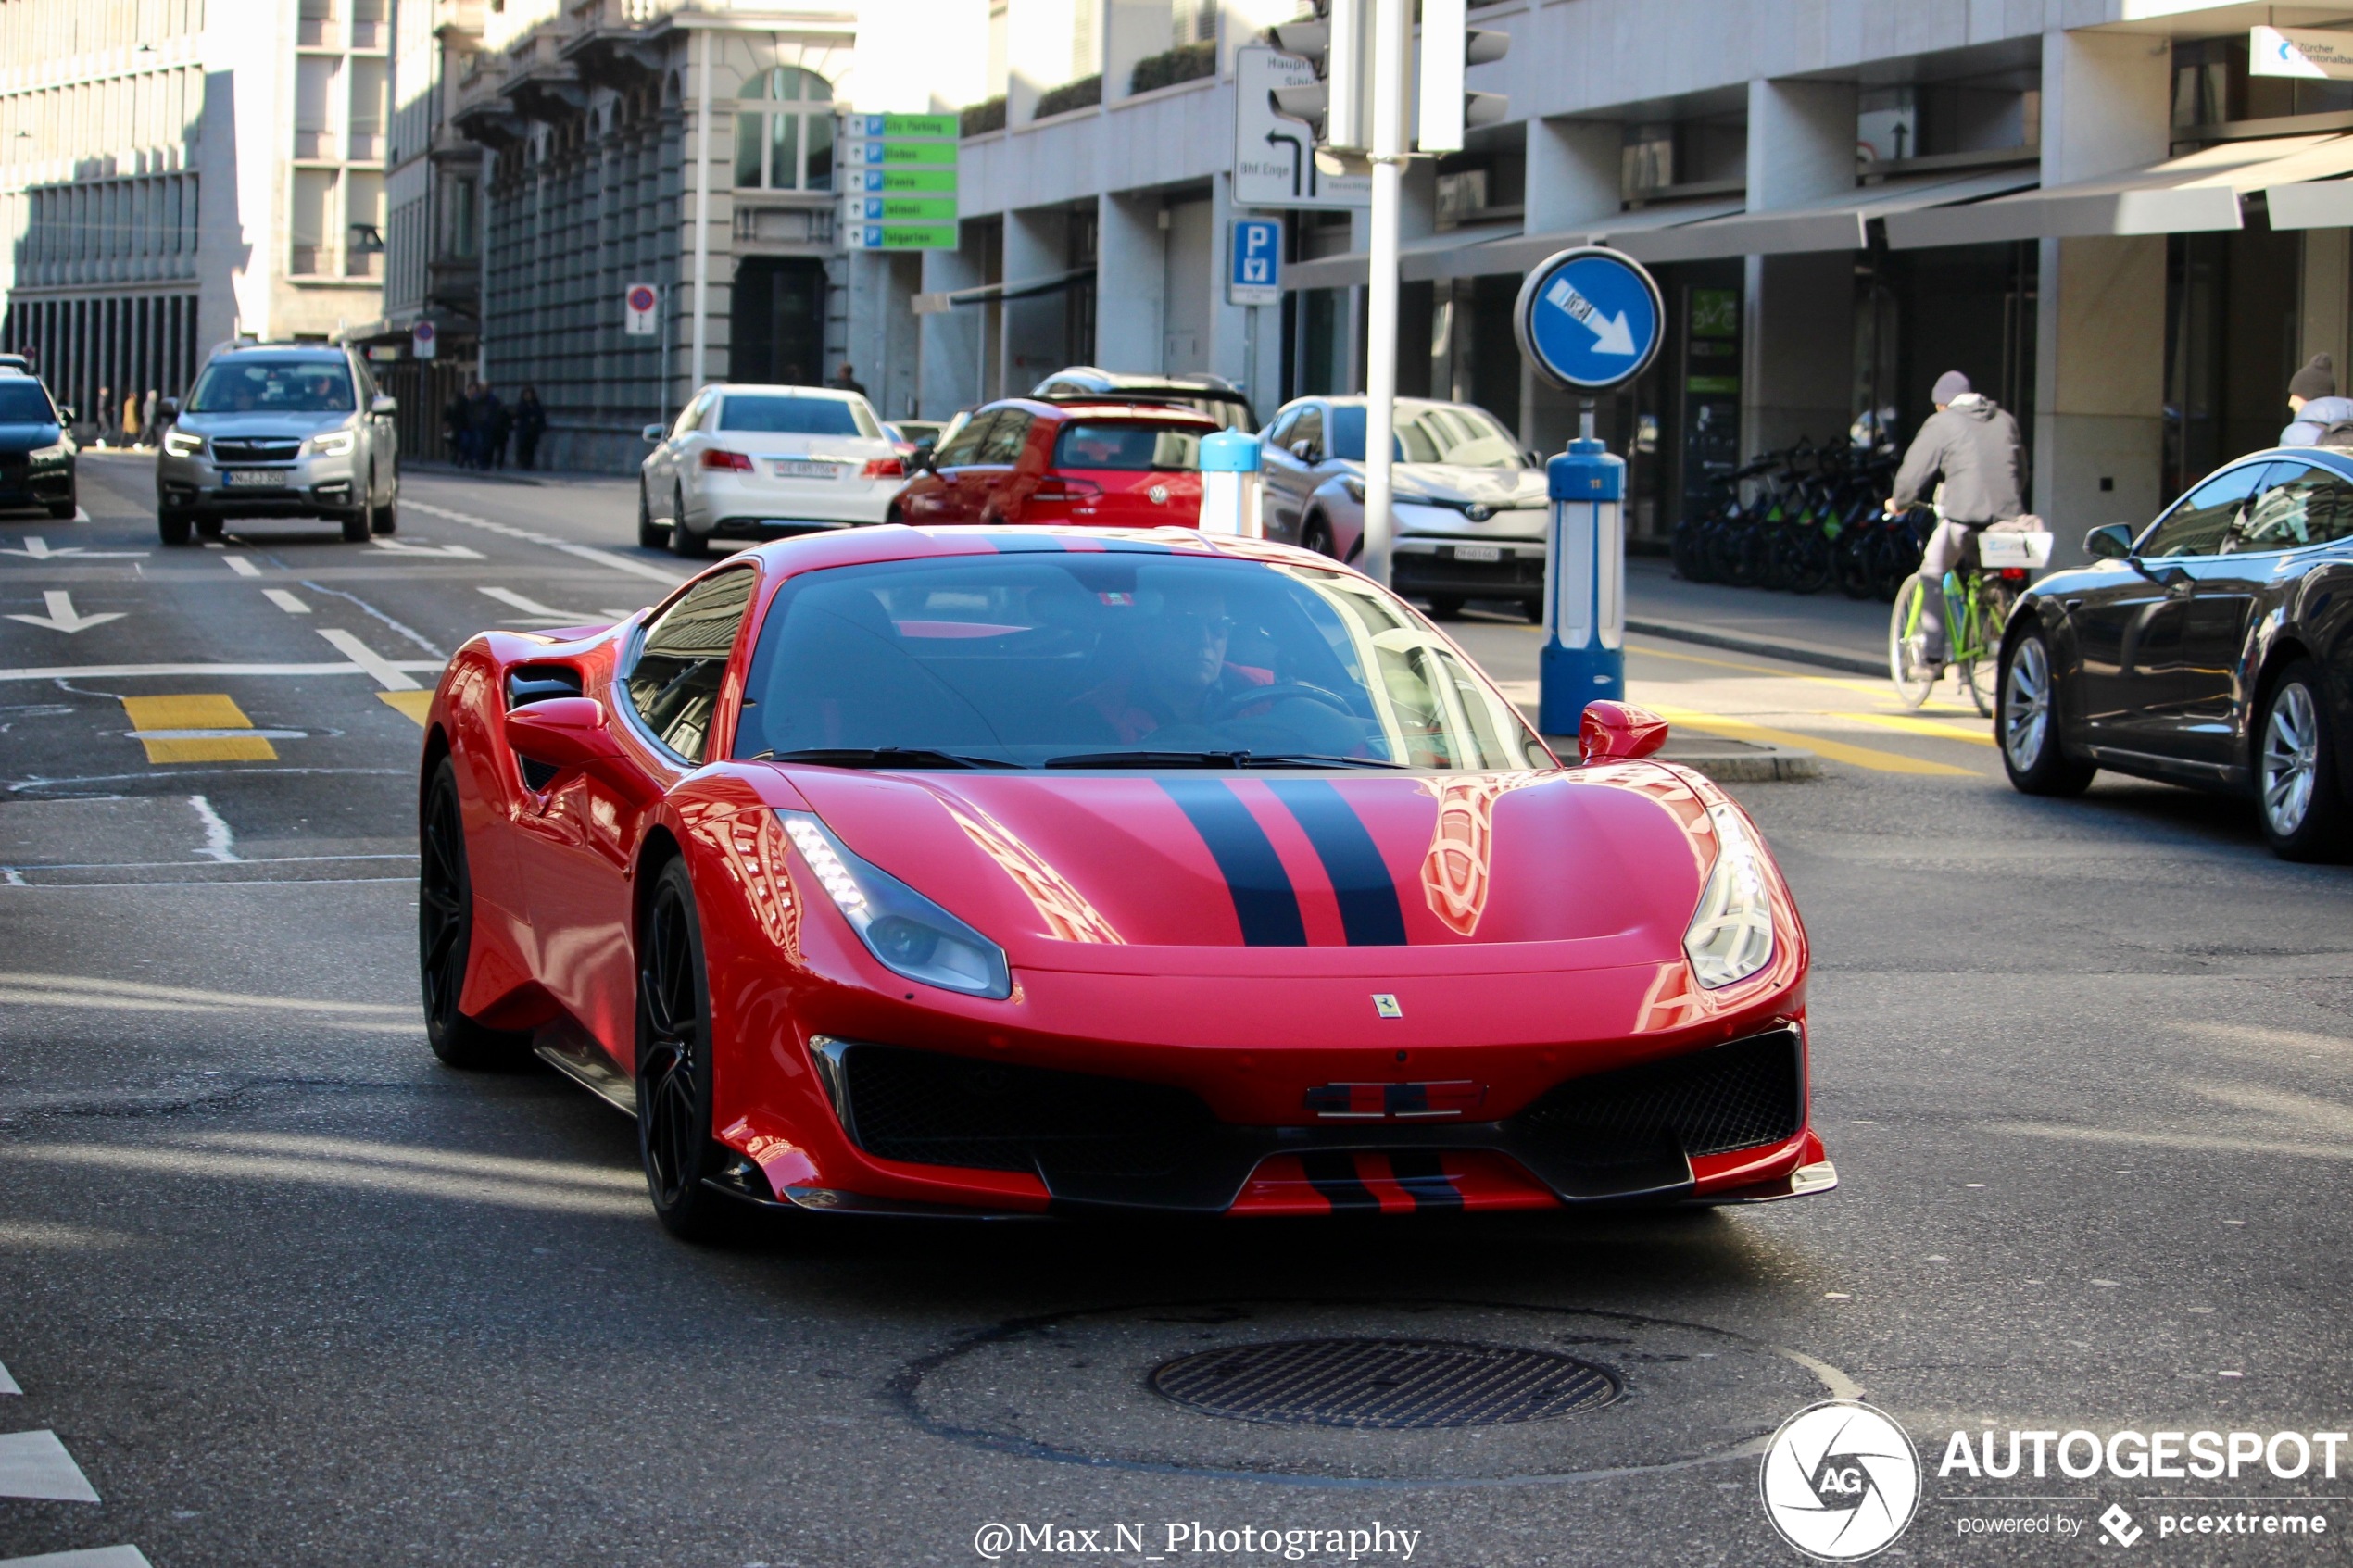
<path fill-rule="evenodd" d="M 1513 705 L 1362 576 L 1125 550 L 786 583 L 734 755 L 882 748 L 944 752 L 946 766 L 1122 752 L 1151 755 L 1136 766 L 1551 766 Z"/>

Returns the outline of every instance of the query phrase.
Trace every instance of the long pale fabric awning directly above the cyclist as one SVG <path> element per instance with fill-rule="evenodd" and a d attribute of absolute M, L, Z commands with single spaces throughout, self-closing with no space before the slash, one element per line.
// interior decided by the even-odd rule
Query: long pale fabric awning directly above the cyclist
<path fill-rule="evenodd" d="M 1887 244 L 1901 252 L 1927 244 L 2240 228 L 2240 197 L 2339 174 L 2353 174 L 2353 136 L 2221 141 L 2144 169 L 1894 214 L 1887 219 Z"/>

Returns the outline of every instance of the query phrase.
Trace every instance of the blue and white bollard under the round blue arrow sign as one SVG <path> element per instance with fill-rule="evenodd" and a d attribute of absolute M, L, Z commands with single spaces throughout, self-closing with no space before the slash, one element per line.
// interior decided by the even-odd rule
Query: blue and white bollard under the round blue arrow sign
<path fill-rule="evenodd" d="M 1537 726 L 1574 736 L 1586 703 L 1626 701 L 1626 458 L 1584 435 L 1544 473 L 1553 541 L 1544 559 Z"/>

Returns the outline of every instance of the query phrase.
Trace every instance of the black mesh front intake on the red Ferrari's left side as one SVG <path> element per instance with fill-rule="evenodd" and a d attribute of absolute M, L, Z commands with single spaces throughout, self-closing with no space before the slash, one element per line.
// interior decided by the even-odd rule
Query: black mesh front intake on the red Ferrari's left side
<path fill-rule="evenodd" d="M 882 1159 L 1054 1178 L 1169 1175 L 1217 1126 L 1184 1088 L 849 1046 L 849 1124 Z"/>

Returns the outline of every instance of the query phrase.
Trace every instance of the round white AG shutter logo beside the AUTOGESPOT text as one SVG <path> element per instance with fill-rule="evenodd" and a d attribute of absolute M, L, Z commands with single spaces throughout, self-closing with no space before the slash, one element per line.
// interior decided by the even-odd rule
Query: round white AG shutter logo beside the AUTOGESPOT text
<path fill-rule="evenodd" d="M 1781 1540 L 1826 1563 L 1894 1544 L 1920 1507 L 1920 1450 L 1889 1415 L 1833 1399 L 1798 1410 L 1765 1446 L 1765 1516 Z"/>

